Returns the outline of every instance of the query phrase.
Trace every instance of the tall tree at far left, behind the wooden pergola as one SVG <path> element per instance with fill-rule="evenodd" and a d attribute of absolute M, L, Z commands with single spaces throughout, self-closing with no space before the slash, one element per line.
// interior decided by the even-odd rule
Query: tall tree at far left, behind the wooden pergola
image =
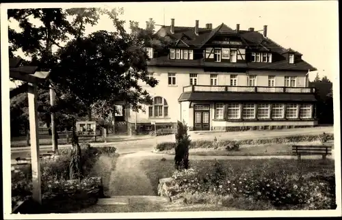
<path fill-rule="evenodd" d="M 24 60 L 23 64 L 38 66 L 40 70 L 51 70 L 57 64 L 57 53 L 53 48 L 63 48 L 71 39 L 83 36 L 86 25 L 96 25 L 99 18 L 98 8 L 71 8 L 62 10 L 61 8 L 35 8 L 35 9 L 12 9 L 8 10 L 8 20 L 10 23 L 16 21 L 21 31 L 16 31 L 9 27 L 10 57 L 15 57 L 17 51 L 23 51 L 29 60 Z M 62 45 L 62 46 L 61 46 Z M 40 121 L 48 126 L 51 123 L 49 104 L 49 83 L 43 83 L 38 88 L 38 111 Z M 60 111 L 55 114 L 57 126 L 70 125 L 69 116 L 74 113 L 83 113 L 79 102 L 75 102 L 75 97 L 60 90 L 55 86 L 57 92 L 56 104 Z M 60 97 L 64 96 L 64 100 Z M 16 110 L 18 106 L 25 106 L 27 94 L 12 98 L 14 105 L 11 107 L 11 118 L 15 122 L 23 120 L 25 124 L 28 120 L 27 108 Z M 70 102 L 67 102 L 67 101 Z M 21 117 L 15 118 L 21 112 Z M 12 117 L 13 116 L 13 117 Z M 79 116 L 76 114 L 75 116 Z M 13 122 L 14 122 L 13 121 Z"/>

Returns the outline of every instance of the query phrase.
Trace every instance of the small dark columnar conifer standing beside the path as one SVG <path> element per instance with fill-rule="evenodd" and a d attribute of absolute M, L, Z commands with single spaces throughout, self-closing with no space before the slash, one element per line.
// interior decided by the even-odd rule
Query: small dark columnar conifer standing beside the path
<path fill-rule="evenodd" d="M 187 135 L 187 126 L 185 122 L 177 122 L 176 133 L 176 148 L 174 156 L 174 165 L 176 169 L 188 169 L 189 168 L 189 135 Z"/>

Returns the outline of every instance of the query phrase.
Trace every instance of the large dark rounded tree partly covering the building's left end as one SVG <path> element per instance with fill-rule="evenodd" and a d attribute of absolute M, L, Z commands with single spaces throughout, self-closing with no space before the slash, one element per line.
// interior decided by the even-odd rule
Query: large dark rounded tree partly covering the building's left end
<path fill-rule="evenodd" d="M 55 85 L 86 105 L 89 120 L 92 110 L 107 117 L 118 101 L 128 102 L 135 110 L 150 104 L 152 99 L 139 82 L 154 87 L 157 80 L 147 77 L 149 58 L 144 48 L 167 44 L 155 35 L 153 22 L 142 29 L 131 21 L 128 32 L 118 18 L 120 11 L 103 13 L 113 20 L 115 31 L 96 31 L 71 40 L 58 51 L 60 62 L 51 71 Z"/>

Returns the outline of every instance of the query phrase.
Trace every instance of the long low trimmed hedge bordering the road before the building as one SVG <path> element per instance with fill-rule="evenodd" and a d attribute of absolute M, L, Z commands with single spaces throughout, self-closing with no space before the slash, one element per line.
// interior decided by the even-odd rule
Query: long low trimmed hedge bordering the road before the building
<path fill-rule="evenodd" d="M 259 145 L 259 144 L 284 144 L 284 143 L 297 143 L 297 142 L 311 142 L 311 141 L 330 141 L 334 139 L 333 134 L 324 134 L 324 135 L 295 135 L 289 137 L 274 137 L 269 139 L 246 139 L 240 141 L 232 141 L 232 140 L 220 140 L 220 141 L 208 141 L 208 140 L 198 140 L 192 141 L 190 143 L 189 148 L 227 148 L 228 146 L 241 146 L 241 145 Z M 157 143 L 156 150 L 164 151 L 164 150 L 172 150 L 176 146 L 174 142 L 161 142 Z M 231 148 L 229 148 L 231 149 Z M 228 150 L 228 149 L 227 149 Z"/>

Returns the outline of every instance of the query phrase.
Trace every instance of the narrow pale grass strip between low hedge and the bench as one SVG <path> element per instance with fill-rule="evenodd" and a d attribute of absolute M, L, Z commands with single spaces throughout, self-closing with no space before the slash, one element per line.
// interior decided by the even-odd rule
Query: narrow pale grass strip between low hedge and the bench
<path fill-rule="evenodd" d="M 300 142 L 291 144 L 259 144 L 259 145 L 243 145 L 237 151 L 228 151 L 224 148 L 194 148 L 189 149 L 189 153 L 194 156 L 274 156 L 274 155 L 292 155 L 292 145 L 321 145 L 319 141 Z M 334 148 L 334 142 L 329 141 L 327 146 Z M 174 149 L 157 152 L 162 154 L 174 155 Z"/>

